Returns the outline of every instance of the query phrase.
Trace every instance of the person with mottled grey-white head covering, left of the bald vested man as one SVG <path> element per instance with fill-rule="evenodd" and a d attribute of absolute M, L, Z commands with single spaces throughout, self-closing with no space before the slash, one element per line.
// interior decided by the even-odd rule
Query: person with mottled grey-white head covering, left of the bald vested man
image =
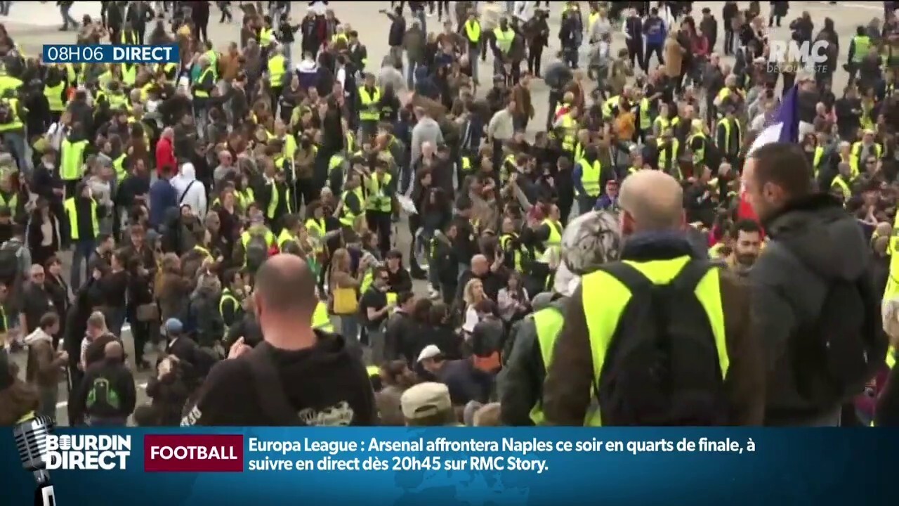
<path fill-rule="evenodd" d="M 507 341 L 511 350 L 503 354 L 508 359 L 497 378 L 503 425 L 518 427 L 543 422 L 543 380 L 552 357 L 552 344 L 562 328 L 565 304 L 580 276 L 617 259 L 620 249 L 619 221 L 612 212 L 588 212 L 565 227 L 554 292 L 535 297 L 535 312 L 512 328 L 512 339 Z"/>

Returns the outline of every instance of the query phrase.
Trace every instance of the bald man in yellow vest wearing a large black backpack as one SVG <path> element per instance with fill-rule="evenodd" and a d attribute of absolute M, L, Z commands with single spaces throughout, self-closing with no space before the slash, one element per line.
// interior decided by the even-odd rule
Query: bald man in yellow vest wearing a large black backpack
<path fill-rule="evenodd" d="M 602 425 L 761 423 L 764 370 L 761 349 L 751 340 L 749 330 L 749 294 L 734 275 L 712 267 L 708 258 L 692 247 L 684 232 L 682 199 L 681 185 L 657 170 L 637 172 L 621 185 L 619 221 L 626 238 L 621 259 L 627 263 L 611 262 L 583 276 L 567 305 L 543 387 L 548 424 L 583 425 L 584 420 L 593 420 L 596 425 L 595 417 L 587 418 L 588 410 L 595 411 L 594 384 L 600 385 Z M 678 283 L 672 286 L 672 279 Z M 641 288 L 647 281 L 671 286 L 665 292 L 669 297 L 654 298 L 654 292 Z M 706 296 L 709 290 L 711 298 L 720 301 L 723 319 L 716 319 L 699 301 L 699 294 Z M 674 318 L 683 321 L 673 323 Z M 709 323 L 722 320 L 720 327 Z M 646 326 L 647 321 L 658 321 L 660 327 Z M 660 353 L 651 339 L 663 339 L 663 335 L 675 344 L 686 343 L 682 354 L 676 353 L 680 348 Z M 719 341 L 719 337 L 723 339 Z M 607 343 L 607 347 L 595 343 Z M 660 357 L 662 353 L 668 360 Z M 682 359 L 684 356 L 690 358 Z M 594 357 L 603 361 L 599 377 L 594 372 Z M 659 364 L 654 357 L 665 361 Z M 683 375 L 649 377 L 645 373 L 672 367 L 681 373 L 690 371 L 687 375 L 694 382 L 708 384 L 708 396 L 717 409 L 694 412 L 692 406 L 681 405 L 677 407 L 687 412 L 677 415 L 647 409 L 660 400 L 677 403 L 678 397 L 672 397 L 667 388 L 684 381 Z M 726 371 L 723 378 L 722 371 Z M 613 376 L 619 381 L 610 381 Z M 633 404 L 621 409 L 621 399 Z"/>

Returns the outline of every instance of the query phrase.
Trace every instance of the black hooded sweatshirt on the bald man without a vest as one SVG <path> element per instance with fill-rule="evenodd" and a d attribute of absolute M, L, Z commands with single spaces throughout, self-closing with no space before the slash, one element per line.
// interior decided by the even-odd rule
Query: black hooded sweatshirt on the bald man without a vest
<path fill-rule="evenodd" d="M 265 354 L 273 364 L 289 407 L 298 414 L 298 424 L 377 425 L 375 396 L 365 366 L 343 337 L 319 330 L 316 336 L 318 342 L 312 348 L 287 351 L 263 341 L 241 357 L 218 362 L 182 425 L 284 425 L 265 412 L 263 396 L 278 395 L 280 389 L 255 375 L 253 361 L 260 357 L 254 354 Z"/>

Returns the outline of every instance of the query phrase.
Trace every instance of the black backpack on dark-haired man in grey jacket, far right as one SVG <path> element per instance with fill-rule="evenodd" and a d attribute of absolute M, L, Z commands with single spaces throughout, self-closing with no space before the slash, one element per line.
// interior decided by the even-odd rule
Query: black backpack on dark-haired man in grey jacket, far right
<path fill-rule="evenodd" d="M 848 401 L 883 368 L 889 338 L 868 270 L 829 284 L 819 316 L 790 343 L 797 392 L 819 405 Z M 806 338 L 807 337 L 807 338 Z"/>

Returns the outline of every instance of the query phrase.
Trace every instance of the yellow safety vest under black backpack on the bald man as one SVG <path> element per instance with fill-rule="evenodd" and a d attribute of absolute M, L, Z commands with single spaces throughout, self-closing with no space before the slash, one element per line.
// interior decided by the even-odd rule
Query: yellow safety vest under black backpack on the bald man
<path fill-rule="evenodd" d="M 672 258 L 670 260 L 652 260 L 633 262 L 624 260 L 629 266 L 636 268 L 654 285 L 667 285 L 681 273 L 690 262 L 690 257 Z M 605 364 L 612 338 L 616 335 L 621 315 L 628 307 L 631 299 L 631 288 L 623 285 L 618 278 L 604 270 L 594 271 L 583 276 L 581 280 L 583 292 L 583 312 L 590 335 L 590 348 L 593 361 L 594 384 L 602 384 L 602 366 Z M 727 377 L 730 368 L 730 357 L 727 354 L 725 339 L 724 308 L 721 303 L 720 277 L 717 268 L 709 268 L 699 284 L 696 285 L 696 297 L 708 315 L 708 322 L 715 337 L 718 352 L 718 364 L 721 375 Z M 596 304 L 596 301 L 604 301 Z M 624 339 L 627 339 L 625 336 Z M 601 413 L 599 413 L 601 414 Z M 590 425 L 602 425 L 601 416 L 590 420 Z"/>

